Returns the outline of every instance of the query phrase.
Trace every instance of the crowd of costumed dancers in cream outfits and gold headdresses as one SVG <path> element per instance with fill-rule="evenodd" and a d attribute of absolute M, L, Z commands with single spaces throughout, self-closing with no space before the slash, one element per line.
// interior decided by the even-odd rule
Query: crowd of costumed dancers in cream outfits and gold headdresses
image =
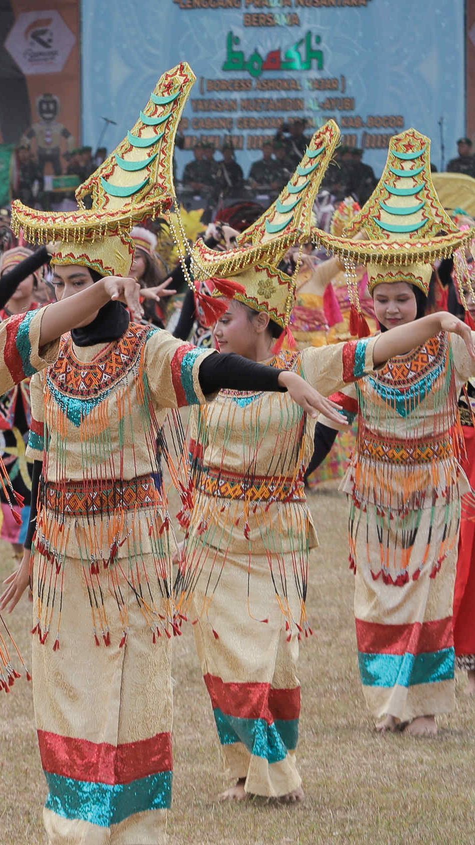
<path fill-rule="evenodd" d="M 0 267 L 2 532 L 21 555 L 0 608 L 30 587 L 51 843 L 165 841 L 172 642 L 187 620 L 232 782 L 222 797 L 303 799 L 306 491 L 329 475 L 344 473 L 377 729 L 434 735 L 456 662 L 475 690 L 473 221 L 444 210 L 430 141 L 408 129 L 363 209 L 348 200 L 319 229 L 330 121 L 268 210 L 191 247 L 172 155 L 193 84 L 187 63 L 163 74 L 79 210 L 16 202 L 17 234 L 46 247 Z M 181 257 L 173 286 L 189 286 L 173 334 L 145 223 L 158 215 Z M 57 303 L 38 309 L 48 260 Z M 432 304 L 443 269 L 456 313 Z M 9 690 L 29 672 L 0 624 Z"/>

